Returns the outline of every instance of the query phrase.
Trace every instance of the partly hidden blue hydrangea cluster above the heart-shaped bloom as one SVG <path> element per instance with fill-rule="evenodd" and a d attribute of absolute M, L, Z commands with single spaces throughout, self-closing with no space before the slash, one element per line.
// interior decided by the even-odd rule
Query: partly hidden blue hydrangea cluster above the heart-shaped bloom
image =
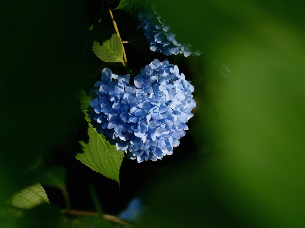
<path fill-rule="evenodd" d="M 154 7 L 148 8 L 146 11 L 141 11 L 138 15 L 143 23 L 138 28 L 143 29 L 146 39 L 149 41 L 149 49 L 152 51 L 162 52 L 164 55 L 184 54 L 200 55 L 199 50 L 192 51 L 192 46 L 189 43 L 181 43 L 176 38 L 176 34 L 170 31 L 170 26 L 165 24 L 165 20 L 158 15 Z"/>

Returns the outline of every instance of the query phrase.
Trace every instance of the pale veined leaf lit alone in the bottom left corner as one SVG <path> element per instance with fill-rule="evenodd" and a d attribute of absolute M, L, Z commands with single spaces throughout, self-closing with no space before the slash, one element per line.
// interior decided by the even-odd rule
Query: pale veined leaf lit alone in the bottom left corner
<path fill-rule="evenodd" d="M 22 209 L 32 209 L 42 202 L 49 203 L 49 199 L 45 189 L 39 183 L 21 189 L 12 199 L 13 206 Z"/>

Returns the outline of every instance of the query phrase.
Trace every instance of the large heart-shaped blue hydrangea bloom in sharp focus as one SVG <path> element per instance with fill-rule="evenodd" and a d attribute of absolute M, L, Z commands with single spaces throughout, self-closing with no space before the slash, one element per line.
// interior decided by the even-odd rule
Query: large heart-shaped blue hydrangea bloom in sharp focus
<path fill-rule="evenodd" d="M 103 69 L 102 81 L 94 85 L 89 118 L 96 131 L 115 140 L 117 150 L 124 150 L 128 158 L 161 160 L 173 153 L 188 130 L 185 123 L 196 107 L 194 86 L 168 60 L 155 59 L 140 72 L 130 85 L 130 74 Z"/>

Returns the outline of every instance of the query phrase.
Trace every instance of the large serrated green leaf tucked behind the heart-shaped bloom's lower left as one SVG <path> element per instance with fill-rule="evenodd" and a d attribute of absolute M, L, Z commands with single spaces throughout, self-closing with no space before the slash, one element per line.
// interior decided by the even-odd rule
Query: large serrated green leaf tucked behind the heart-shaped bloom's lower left
<path fill-rule="evenodd" d="M 87 111 L 90 98 L 82 91 L 79 95 L 81 109 Z M 85 112 L 85 119 L 90 122 L 88 114 Z M 103 174 L 105 177 L 113 179 L 120 184 L 119 172 L 124 157 L 124 151 L 117 151 L 115 145 L 110 145 L 105 136 L 98 134 L 95 128 L 89 124 L 89 143 L 81 141 L 84 153 L 77 153 L 77 160 L 87 165 L 92 170 Z"/>

